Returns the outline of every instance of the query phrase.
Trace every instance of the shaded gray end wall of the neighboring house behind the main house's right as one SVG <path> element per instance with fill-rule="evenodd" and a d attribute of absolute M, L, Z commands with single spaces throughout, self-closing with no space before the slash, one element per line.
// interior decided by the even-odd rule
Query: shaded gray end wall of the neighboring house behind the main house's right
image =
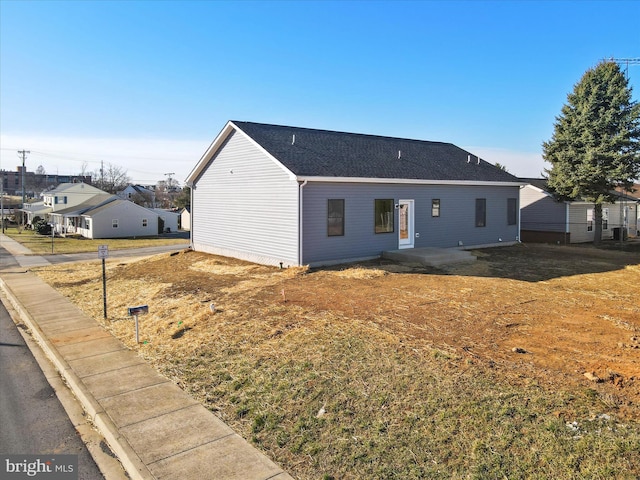
<path fill-rule="evenodd" d="M 530 185 L 520 190 L 522 230 L 565 232 L 567 229 L 564 202 L 558 202 Z"/>

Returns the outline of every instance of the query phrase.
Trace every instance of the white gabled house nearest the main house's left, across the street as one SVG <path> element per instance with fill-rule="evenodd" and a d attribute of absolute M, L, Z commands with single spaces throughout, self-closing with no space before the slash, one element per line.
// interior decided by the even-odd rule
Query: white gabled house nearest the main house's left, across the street
<path fill-rule="evenodd" d="M 81 215 L 87 238 L 150 237 L 158 235 L 159 215 L 129 200 L 115 198 Z"/>

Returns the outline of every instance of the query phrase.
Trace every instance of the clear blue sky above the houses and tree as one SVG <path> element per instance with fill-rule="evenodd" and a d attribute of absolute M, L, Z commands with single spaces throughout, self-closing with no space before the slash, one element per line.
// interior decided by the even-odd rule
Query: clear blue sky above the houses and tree
<path fill-rule="evenodd" d="M 450 142 L 520 177 L 638 1 L 0 0 L 0 169 L 184 184 L 229 120 Z M 640 65 L 628 67 L 640 99 Z"/>

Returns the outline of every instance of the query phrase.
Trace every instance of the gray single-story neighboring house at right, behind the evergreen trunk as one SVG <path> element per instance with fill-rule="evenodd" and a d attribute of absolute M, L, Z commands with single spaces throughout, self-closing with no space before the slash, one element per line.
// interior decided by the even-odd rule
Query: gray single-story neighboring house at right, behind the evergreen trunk
<path fill-rule="evenodd" d="M 521 236 L 524 242 L 586 243 L 594 240 L 594 204 L 558 200 L 545 179 L 526 178 L 520 192 Z M 619 193 L 602 205 L 602 240 L 635 235 L 638 199 Z"/>

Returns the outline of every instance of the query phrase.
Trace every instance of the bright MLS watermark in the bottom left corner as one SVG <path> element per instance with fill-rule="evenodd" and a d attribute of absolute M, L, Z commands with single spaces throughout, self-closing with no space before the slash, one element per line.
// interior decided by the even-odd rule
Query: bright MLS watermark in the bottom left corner
<path fill-rule="evenodd" d="M 0 455 L 3 480 L 78 480 L 77 455 Z"/>

